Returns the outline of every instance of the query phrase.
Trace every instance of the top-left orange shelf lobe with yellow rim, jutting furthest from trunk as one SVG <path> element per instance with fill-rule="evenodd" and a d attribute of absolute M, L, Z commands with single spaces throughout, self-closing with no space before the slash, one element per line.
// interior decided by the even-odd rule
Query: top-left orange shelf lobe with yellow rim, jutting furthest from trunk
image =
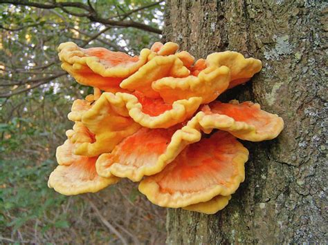
<path fill-rule="evenodd" d="M 122 79 L 143 66 L 151 54 L 143 49 L 139 57 L 131 57 L 105 48 L 79 48 L 73 42 L 60 44 L 58 51 L 62 68 L 80 84 L 108 92 L 125 91 L 119 86 Z"/>

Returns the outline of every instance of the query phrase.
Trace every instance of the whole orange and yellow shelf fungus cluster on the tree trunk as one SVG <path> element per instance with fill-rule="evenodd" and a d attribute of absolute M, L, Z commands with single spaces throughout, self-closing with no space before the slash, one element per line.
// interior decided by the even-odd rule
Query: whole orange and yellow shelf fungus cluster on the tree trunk
<path fill-rule="evenodd" d="M 72 42 L 58 50 L 62 68 L 94 88 L 73 102 L 75 125 L 57 148 L 48 186 L 64 195 L 128 178 L 158 206 L 216 213 L 245 178 L 248 150 L 237 138 L 273 139 L 284 127 L 259 104 L 216 100 L 262 68 L 238 52 L 194 61 L 172 42 L 136 57 Z"/>

